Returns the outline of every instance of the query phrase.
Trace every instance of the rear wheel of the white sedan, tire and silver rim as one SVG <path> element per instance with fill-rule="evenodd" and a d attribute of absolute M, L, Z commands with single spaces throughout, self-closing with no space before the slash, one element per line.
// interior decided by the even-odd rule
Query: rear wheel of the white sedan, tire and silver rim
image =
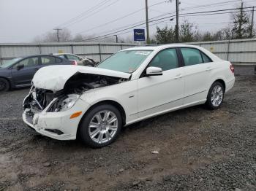
<path fill-rule="evenodd" d="M 218 109 L 224 99 L 224 87 L 220 82 L 214 82 L 207 95 L 206 106 L 208 109 Z"/>

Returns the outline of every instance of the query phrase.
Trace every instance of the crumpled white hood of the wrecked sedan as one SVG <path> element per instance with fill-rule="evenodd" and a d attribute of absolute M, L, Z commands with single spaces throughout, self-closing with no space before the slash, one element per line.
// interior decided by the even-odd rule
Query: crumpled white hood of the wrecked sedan
<path fill-rule="evenodd" d="M 64 88 L 67 80 L 77 73 L 98 74 L 109 77 L 120 77 L 128 79 L 131 74 L 108 69 L 99 69 L 89 66 L 46 66 L 39 69 L 32 79 L 34 87 L 45 90 L 59 91 Z"/>

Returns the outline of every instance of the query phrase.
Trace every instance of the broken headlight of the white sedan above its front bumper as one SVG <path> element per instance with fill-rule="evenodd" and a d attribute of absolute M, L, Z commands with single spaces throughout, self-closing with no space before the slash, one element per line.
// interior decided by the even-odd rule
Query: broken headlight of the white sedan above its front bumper
<path fill-rule="evenodd" d="M 75 102 L 78 101 L 78 98 L 80 95 L 78 94 L 69 94 L 63 98 L 58 98 L 52 106 L 50 106 L 50 109 L 48 109 L 48 112 L 64 112 L 68 109 L 72 108 L 72 106 L 75 105 Z"/>

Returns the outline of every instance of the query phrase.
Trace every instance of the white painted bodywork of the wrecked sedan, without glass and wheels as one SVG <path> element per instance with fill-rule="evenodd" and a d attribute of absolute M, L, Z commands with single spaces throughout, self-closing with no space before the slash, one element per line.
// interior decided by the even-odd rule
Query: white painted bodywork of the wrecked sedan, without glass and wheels
<path fill-rule="evenodd" d="M 140 77 L 148 63 L 160 50 L 183 46 L 195 47 L 205 52 L 213 62 L 170 69 L 163 71 L 162 76 Z M 34 122 L 38 120 L 37 124 L 30 124 L 24 114 L 23 120 L 36 129 L 38 133 L 50 136 L 53 139 L 75 139 L 82 115 L 99 101 L 110 100 L 120 104 L 126 114 L 126 125 L 129 125 L 159 114 L 204 104 L 209 88 L 217 79 L 222 79 L 225 82 L 226 92 L 233 87 L 235 82 L 235 77 L 230 71 L 230 63 L 222 61 L 202 47 L 172 44 L 158 47 L 135 47 L 129 50 L 153 50 L 132 74 L 130 81 L 89 90 L 83 93 L 75 105 L 65 112 L 51 113 L 46 112 L 47 109 L 45 109 L 43 112 L 34 115 Z M 122 72 L 84 66 L 49 66 L 40 69 L 33 82 L 35 87 L 60 90 L 64 87 L 67 79 L 76 72 L 122 78 L 129 78 L 130 76 L 130 74 Z M 83 114 L 70 120 L 70 115 L 78 111 L 82 111 Z M 59 129 L 64 132 L 64 135 L 58 136 L 55 133 L 49 133 L 44 130 L 45 128 Z"/>

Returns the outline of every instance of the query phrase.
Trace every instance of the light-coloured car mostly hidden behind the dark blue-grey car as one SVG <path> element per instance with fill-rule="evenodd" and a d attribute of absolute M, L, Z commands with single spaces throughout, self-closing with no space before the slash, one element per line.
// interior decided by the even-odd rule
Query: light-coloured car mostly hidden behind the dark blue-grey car
<path fill-rule="evenodd" d="M 70 54 L 70 53 L 54 53 L 53 55 L 59 56 L 61 58 L 66 58 L 69 61 L 76 61 L 76 63 L 80 66 L 94 67 L 98 63 L 91 58 L 84 58 L 79 55 L 74 55 L 74 54 Z"/>

